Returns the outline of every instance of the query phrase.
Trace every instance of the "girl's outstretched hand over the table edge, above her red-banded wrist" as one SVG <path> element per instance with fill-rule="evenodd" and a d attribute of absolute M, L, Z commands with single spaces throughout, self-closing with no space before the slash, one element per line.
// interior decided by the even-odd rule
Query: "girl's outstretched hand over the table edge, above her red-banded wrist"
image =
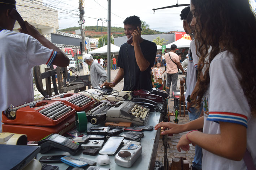
<path fill-rule="evenodd" d="M 180 125 L 180 124 L 174 124 L 171 122 L 160 122 L 159 124 L 157 124 L 155 126 L 155 130 L 157 130 L 158 128 L 161 128 L 161 127 L 163 127 L 164 130 L 166 128 L 169 128 L 169 130 L 162 131 L 161 135 L 177 134 L 177 133 L 183 132 L 182 125 Z"/>

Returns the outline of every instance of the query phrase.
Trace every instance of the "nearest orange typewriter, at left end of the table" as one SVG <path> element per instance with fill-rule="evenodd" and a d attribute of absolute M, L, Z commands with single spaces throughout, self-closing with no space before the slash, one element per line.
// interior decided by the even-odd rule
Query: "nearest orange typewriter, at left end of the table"
<path fill-rule="evenodd" d="M 49 134 L 64 134 L 75 127 L 75 109 L 55 100 L 37 100 L 3 111 L 4 132 L 26 134 L 41 140 Z"/>

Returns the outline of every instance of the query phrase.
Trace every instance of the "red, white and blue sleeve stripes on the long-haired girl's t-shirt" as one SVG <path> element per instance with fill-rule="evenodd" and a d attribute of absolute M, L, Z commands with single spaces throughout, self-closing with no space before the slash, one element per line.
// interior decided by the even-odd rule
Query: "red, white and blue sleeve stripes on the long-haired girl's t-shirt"
<path fill-rule="evenodd" d="M 247 128 L 247 116 L 241 115 L 239 113 L 209 112 L 207 120 L 236 123 Z"/>

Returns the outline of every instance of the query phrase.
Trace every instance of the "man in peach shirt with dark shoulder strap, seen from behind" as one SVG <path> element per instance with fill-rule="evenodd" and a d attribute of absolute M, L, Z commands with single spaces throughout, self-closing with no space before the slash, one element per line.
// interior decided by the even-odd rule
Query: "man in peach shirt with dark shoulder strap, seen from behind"
<path fill-rule="evenodd" d="M 177 46 L 173 44 L 171 46 L 171 51 L 169 53 L 165 53 L 165 62 L 166 62 L 166 78 L 167 78 L 167 87 L 171 87 L 172 83 L 172 91 L 171 93 L 176 90 L 177 87 L 177 81 L 178 81 L 178 68 L 181 69 L 182 73 L 184 73 L 184 70 L 181 66 L 181 63 L 179 62 L 179 56 L 175 53 L 177 50 Z M 170 89 L 167 89 L 166 92 L 168 93 L 168 98 L 170 98 Z M 171 95 L 171 100 L 174 99 L 173 93 Z"/>

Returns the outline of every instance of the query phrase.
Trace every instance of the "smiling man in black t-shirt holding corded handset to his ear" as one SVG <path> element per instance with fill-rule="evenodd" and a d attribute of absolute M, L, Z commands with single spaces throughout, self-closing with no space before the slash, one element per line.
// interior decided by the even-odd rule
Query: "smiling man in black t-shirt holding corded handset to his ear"
<path fill-rule="evenodd" d="M 123 91 L 135 89 L 152 89 L 151 67 L 156 56 L 156 44 L 141 37 L 141 21 L 137 16 L 127 17 L 124 23 L 125 35 L 132 37 L 132 42 L 121 45 L 117 66 L 119 70 L 112 82 L 104 82 L 101 86 L 113 88 L 123 78 Z"/>

